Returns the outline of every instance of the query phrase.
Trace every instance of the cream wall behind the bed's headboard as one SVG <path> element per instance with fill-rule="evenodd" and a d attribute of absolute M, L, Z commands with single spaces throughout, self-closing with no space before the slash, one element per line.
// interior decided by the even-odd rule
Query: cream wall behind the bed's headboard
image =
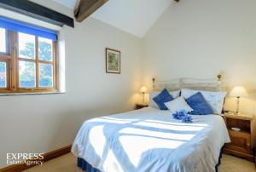
<path fill-rule="evenodd" d="M 241 112 L 255 114 L 256 1 L 182 0 L 172 3 L 143 39 L 143 80 L 211 78 L 245 86 Z M 226 108 L 234 110 L 234 99 Z"/>

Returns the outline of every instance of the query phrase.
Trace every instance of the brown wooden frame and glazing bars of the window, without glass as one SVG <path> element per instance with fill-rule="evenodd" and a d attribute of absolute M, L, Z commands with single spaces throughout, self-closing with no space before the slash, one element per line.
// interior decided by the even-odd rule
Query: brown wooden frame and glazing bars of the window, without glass
<path fill-rule="evenodd" d="M 0 54 L 0 61 L 6 62 L 7 70 L 7 88 L 0 88 L 1 94 L 8 93 L 48 93 L 58 91 L 57 82 L 57 41 L 52 40 L 52 54 L 53 60 L 39 60 L 38 57 L 38 37 L 35 36 L 35 59 L 26 59 L 19 57 L 19 37 L 18 32 L 11 32 L 6 30 L 6 54 Z M 31 61 L 36 65 L 36 87 L 21 88 L 19 81 L 19 62 Z M 53 66 L 53 87 L 39 87 L 39 64 L 51 64 Z"/>

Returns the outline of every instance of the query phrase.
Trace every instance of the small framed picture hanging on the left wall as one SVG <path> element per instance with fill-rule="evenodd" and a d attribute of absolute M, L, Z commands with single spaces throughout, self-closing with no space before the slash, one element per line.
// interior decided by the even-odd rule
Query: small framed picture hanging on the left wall
<path fill-rule="evenodd" d="M 115 49 L 106 49 L 106 72 L 121 73 L 121 52 Z"/>

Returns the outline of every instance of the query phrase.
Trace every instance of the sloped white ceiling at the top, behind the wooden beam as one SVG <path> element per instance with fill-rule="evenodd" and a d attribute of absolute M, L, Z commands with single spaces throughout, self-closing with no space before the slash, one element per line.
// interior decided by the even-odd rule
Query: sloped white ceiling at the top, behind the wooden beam
<path fill-rule="evenodd" d="M 74 9 L 77 3 L 77 0 L 54 1 L 71 9 Z M 109 0 L 91 17 L 137 37 L 143 37 L 172 2 L 172 0 Z"/>

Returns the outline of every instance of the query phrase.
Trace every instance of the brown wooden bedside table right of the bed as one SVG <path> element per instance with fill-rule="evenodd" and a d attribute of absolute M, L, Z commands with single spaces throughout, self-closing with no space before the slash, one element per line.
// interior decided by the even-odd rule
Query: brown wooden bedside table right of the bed
<path fill-rule="evenodd" d="M 255 119 L 250 115 L 226 113 L 224 121 L 230 134 L 230 143 L 225 144 L 224 153 L 246 158 L 254 162 L 253 147 L 255 147 Z M 239 128 L 234 131 L 231 128 Z"/>

